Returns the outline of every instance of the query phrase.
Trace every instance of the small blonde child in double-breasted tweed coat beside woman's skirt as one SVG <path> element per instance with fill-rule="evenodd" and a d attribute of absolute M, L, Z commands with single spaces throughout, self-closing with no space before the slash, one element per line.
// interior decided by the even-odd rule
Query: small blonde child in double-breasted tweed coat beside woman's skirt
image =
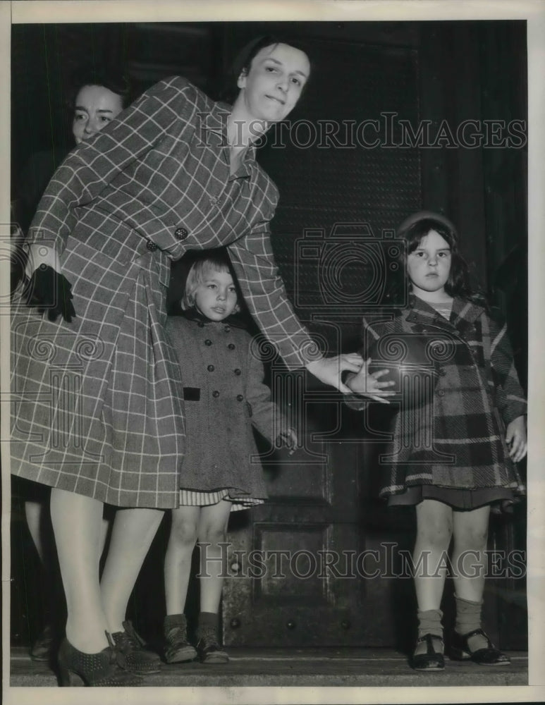
<path fill-rule="evenodd" d="M 222 544 L 229 513 L 267 497 L 252 427 L 277 446 L 297 436 L 271 401 L 250 335 L 231 316 L 239 310 L 228 259 L 209 253 L 192 264 L 182 300 L 185 316 L 166 324 L 180 362 L 187 453 L 180 507 L 172 510 L 165 557 L 167 663 L 228 661 L 219 646 Z M 200 544 L 197 652 L 188 643 L 183 608 L 195 542 Z"/>

